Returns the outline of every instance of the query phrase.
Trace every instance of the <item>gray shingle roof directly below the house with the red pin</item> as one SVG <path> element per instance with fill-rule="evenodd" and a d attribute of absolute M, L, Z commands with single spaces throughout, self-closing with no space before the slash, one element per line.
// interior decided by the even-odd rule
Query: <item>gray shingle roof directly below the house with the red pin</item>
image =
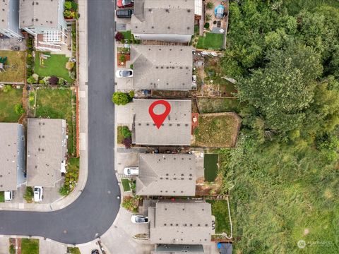
<path fill-rule="evenodd" d="M 195 155 L 139 155 L 136 195 L 194 196 L 195 194 Z"/>

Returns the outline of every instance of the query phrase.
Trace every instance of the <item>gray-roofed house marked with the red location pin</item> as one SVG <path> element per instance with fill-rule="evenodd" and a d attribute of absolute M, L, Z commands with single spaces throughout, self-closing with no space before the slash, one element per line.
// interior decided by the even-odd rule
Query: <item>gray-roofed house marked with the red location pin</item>
<path fill-rule="evenodd" d="M 167 99 L 171 110 L 160 128 L 155 126 L 148 109 L 158 99 L 133 99 L 132 143 L 136 145 L 191 145 L 191 100 Z M 158 104 L 153 112 L 162 114 Z"/>

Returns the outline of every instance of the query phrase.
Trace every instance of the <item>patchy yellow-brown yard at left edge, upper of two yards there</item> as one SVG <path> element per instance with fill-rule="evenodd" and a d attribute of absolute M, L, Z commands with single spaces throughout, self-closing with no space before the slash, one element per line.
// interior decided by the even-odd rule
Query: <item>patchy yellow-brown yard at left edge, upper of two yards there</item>
<path fill-rule="evenodd" d="M 25 52 L 0 51 L 0 56 L 7 56 L 5 72 L 0 72 L 0 82 L 25 82 Z"/>

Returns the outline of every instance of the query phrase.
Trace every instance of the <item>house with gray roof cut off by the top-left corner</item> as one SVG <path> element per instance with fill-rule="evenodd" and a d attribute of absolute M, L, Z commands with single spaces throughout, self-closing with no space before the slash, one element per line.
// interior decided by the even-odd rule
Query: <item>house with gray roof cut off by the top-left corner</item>
<path fill-rule="evenodd" d="M 0 33 L 7 37 L 21 38 L 19 28 L 19 0 L 0 1 Z"/>

